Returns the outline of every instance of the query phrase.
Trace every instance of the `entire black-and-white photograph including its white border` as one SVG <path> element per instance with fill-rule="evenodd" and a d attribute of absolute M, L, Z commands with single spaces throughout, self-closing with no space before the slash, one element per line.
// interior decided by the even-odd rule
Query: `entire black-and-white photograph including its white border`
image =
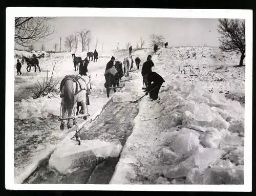
<path fill-rule="evenodd" d="M 251 190 L 252 10 L 6 13 L 7 189 Z"/>

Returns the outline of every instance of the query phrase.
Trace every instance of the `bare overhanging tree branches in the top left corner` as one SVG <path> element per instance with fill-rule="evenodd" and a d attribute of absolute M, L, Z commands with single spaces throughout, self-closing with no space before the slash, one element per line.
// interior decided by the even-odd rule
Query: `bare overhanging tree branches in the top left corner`
<path fill-rule="evenodd" d="M 53 17 L 15 17 L 14 40 L 20 46 L 29 46 L 54 33 L 48 21 Z"/>

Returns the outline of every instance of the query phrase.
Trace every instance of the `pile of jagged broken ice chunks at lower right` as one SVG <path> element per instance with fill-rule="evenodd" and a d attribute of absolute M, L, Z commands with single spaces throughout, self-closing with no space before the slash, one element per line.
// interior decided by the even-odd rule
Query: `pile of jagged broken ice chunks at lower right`
<path fill-rule="evenodd" d="M 244 109 L 191 85 L 187 92 L 171 86 L 164 100 L 162 128 L 167 131 L 157 158 L 169 165 L 168 179 L 184 178 L 187 184 L 244 183 Z M 176 103 L 176 105 L 174 105 Z M 177 131 L 176 131 L 177 130 Z M 165 167 L 166 168 L 166 167 Z"/>

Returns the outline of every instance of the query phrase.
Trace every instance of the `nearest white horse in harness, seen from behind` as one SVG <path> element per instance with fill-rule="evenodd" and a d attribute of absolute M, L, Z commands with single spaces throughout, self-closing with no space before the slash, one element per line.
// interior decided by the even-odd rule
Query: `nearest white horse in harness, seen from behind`
<path fill-rule="evenodd" d="M 91 90 L 91 78 L 89 76 L 84 75 L 67 75 L 65 76 L 60 83 L 60 96 L 61 106 L 62 106 L 62 119 L 67 117 L 71 117 L 72 112 L 76 114 L 76 103 L 81 102 L 83 106 L 83 111 L 87 110 L 87 99 L 89 99 L 90 90 Z M 85 112 L 83 112 L 85 114 Z M 75 124 L 75 119 L 73 120 L 73 125 Z M 67 123 L 68 128 L 71 128 L 72 125 L 70 123 L 70 119 L 68 119 Z M 61 120 L 60 129 L 65 128 L 65 123 Z"/>

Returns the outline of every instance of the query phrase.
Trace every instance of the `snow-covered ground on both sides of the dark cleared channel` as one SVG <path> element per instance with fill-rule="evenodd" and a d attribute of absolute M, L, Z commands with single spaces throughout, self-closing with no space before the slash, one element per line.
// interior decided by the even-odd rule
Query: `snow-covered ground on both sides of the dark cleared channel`
<path fill-rule="evenodd" d="M 32 56 L 15 51 L 15 60 L 24 53 Z M 130 93 L 132 99 L 144 95 L 141 67 L 147 55 L 153 56 L 153 71 L 162 75 L 165 83 L 158 101 L 151 102 L 148 96 L 140 101 L 133 134 L 122 150 L 111 184 L 243 183 L 245 67 L 233 67 L 239 55 L 210 47 L 160 48 L 155 54 L 152 49 L 142 49 L 133 53 L 134 59 L 141 58 L 140 70 L 130 73 L 131 81 L 125 82 L 123 92 Z M 98 62 L 90 62 L 91 115 L 110 100 L 103 85 L 106 63 L 112 55 L 122 62 L 127 54 L 127 50 L 99 53 Z M 61 99 L 57 93 L 32 99 L 34 84 L 46 76 L 47 70 L 51 73 L 54 62 L 55 78 L 77 74 L 71 53 L 46 56 L 39 60 L 42 72 L 34 73 L 31 68 L 27 73 L 23 66 L 23 74 L 15 76 L 16 182 L 22 182 L 28 176 L 27 168 L 48 155 L 70 131 L 59 129 Z M 77 56 L 86 57 L 81 53 Z M 225 180 L 216 182 L 212 179 L 220 175 L 219 171 Z"/>

